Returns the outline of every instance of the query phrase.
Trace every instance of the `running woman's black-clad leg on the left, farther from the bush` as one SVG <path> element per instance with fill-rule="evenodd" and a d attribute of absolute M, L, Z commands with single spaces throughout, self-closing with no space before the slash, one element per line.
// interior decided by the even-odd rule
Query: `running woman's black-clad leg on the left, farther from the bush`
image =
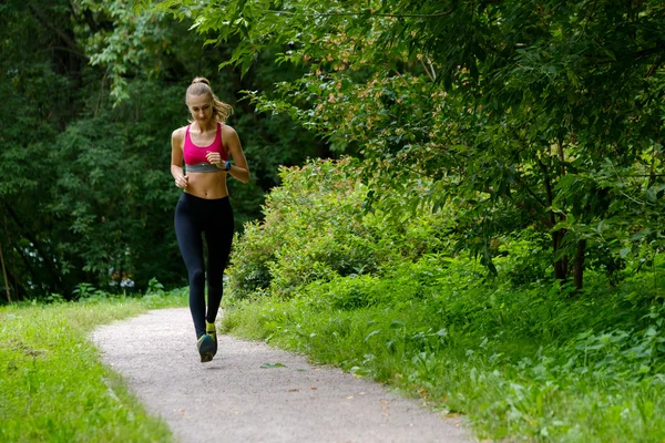
<path fill-rule="evenodd" d="M 194 222 L 187 196 L 183 194 L 175 208 L 175 235 L 190 279 L 190 311 L 196 338 L 205 333 L 205 270 L 201 227 Z"/>

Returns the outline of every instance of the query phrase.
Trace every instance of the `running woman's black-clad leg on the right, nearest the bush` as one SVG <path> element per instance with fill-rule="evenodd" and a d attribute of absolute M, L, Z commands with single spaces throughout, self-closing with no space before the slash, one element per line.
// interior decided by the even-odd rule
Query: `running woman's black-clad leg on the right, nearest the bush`
<path fill-rule="evenodd" d="M 233 209 L 228 197 L 215 202 L 215 217 L 205 230 L 205 239 L 207 243 L 207 284 L 208 284 L 208 302 L 206 320 L 209 323 L 215 322 L 222 295 L 224 293 L 223 277 L 224 269 L 231 254 L 231 245 L 233 243 Z"/>

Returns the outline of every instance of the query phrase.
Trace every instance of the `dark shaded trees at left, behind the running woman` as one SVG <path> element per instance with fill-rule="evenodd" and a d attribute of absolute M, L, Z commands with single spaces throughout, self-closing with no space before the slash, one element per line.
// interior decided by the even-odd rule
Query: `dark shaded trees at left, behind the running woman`
<path fill-rule="evenodd" d="M 206 75 L 235 107 L 248 185 L 229 181 L 236 229 L 260 217 L 278 165 L 328 155 L 325 144 L 266 119 L 238 91 L 266 90 L 301 68 L 217 70 L 232 44 L 203 47 L 191 20 L 135 11 L 133 2 L 11 0 L 0 6 L 0 289 L 13 300 L 73 297 L 79 284 L 144 290 L 183 286 L 173 234 L 178 190 L 171 132 L 187 123 L 186 85 Z M 266 49 L 267 54 L 274 49 Z M 30 56 L 25 56 L 30 54 Z M 2 297 L 4 300 L 4 296 Z"/>

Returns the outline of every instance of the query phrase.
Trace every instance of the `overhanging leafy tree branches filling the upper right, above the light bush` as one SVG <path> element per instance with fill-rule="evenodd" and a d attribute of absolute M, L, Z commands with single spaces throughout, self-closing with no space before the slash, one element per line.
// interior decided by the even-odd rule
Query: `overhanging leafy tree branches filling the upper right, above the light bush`
<path fill-rule="evenodd" d="M 305 65 L 249 92 L 399 185 L 417 172 L 469 206 L 463 246 L 533 226 L 551 236 L 554 277 L 583 286 L 587 251 L 607 262 L 661 247 L 664 4 L 658 1 L 396 2 L 167 0 L 247 71 L 267 44 Z M 416 198 L 416 197 L 415 197 Z M 596 257 L 597 259 L 597 257 Z"/>

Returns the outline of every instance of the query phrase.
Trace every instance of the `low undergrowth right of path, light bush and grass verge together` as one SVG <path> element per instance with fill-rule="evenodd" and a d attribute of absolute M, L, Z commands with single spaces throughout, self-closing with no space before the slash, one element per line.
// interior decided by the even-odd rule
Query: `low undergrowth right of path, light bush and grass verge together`
<path fill-rule="evenodd" d="M 493 277 L 452 253 L 459 208 L 366 210 L 356 159 L 282 178 L 236 244 L 226 331 L 462 413 L 490 441 L 665 437 L 663 254 L 626 257 L 612 279 L 589 269 L 577 289 L 528 227 L 497 240 Z"/>

